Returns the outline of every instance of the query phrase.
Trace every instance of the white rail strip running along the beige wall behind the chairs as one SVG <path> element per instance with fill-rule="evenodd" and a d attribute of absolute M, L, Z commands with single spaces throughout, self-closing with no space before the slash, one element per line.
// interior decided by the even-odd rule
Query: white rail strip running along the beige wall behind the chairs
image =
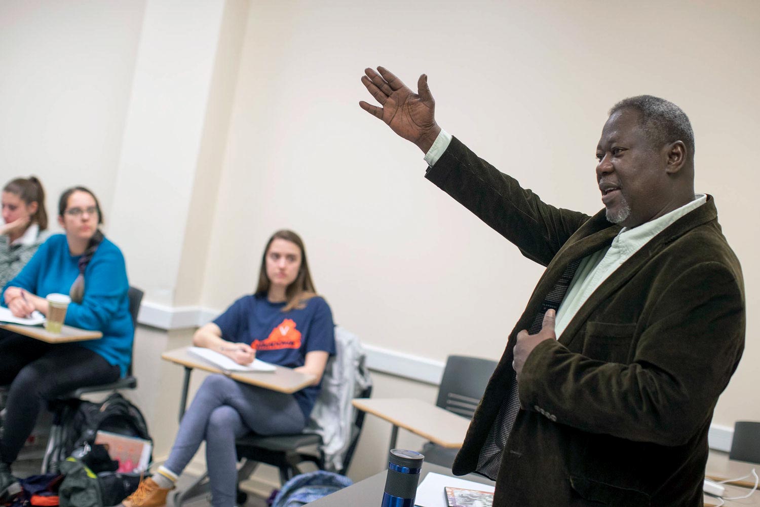
<path fill-rule="evenodd" d="M 138 322 L 160 329 L 195 328 L 211 322 L 220 311 L 201 306 L 181 306 L 173 308 L 144 301 L 140 306 Z M 364 345 L 367 352 L 367 366 L 376 372 L 397 375 L 405 379 L 426 384 L 440 385 L 445 363 L 427 357 L 414 356 L 397 350 Z M 708 440 L 710 448 L 729 452 L 733 428 L 713 424 Z"/>

